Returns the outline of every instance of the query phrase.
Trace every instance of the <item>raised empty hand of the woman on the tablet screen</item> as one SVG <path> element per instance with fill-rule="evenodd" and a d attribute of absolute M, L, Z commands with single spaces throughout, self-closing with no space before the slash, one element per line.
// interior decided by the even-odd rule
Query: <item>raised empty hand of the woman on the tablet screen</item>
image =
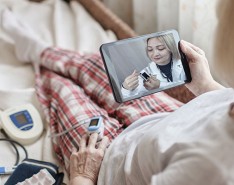
<path fill-rule="evenodd" d="M 129 91 L 135 90 L 139 85 L 138 76 L 139 76 L 139 73 L 136 70 L 134 70 L 131 75 L 125 78 L 123 82 L 123 88 Z"/>

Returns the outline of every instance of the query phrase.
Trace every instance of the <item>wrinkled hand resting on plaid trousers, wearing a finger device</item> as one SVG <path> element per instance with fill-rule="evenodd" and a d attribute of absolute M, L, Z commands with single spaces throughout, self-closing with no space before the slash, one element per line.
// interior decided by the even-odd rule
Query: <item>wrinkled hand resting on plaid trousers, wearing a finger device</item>
<path fill-rule="evenodd" d="M 94 185 L 97 183 L 102 159 L 109 144 L 108 137 L 104 136 L 96 148 L 97 138 L 97 133 L 92 134 L 90 137 L 83 136 L 79 151 L 73 151 L 70 157 L 71 185 Z"/>

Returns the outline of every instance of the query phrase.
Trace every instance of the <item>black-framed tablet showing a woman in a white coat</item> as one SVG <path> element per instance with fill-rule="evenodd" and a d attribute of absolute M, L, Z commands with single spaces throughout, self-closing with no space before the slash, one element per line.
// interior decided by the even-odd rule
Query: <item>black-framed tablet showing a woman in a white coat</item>
<path fill-rule="evenodd" d="M 114 98 L 122 103 L 191 82 L 176 30 L 105 43 L 100 53 Z"/>

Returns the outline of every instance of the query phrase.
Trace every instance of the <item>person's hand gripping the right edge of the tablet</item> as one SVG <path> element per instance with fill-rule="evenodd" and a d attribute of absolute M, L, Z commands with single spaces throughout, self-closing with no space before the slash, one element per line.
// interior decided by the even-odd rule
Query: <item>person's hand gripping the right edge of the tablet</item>
<path fill-rule="evenodd" d="M 196 96 L 208 91 L 224 88 L 211 76 L 205 52 L 186 41 L 180 42 L 181 50 L 186 55 L 191 71 L 192 82 L 186 87 Z"/>

